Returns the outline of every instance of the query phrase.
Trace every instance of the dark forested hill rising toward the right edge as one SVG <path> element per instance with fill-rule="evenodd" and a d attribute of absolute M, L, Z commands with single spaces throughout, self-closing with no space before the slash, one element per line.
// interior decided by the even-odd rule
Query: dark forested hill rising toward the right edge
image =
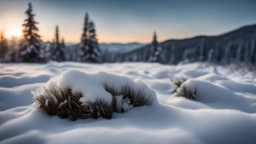
<path fill-rule="evenodd" d="M 234 61 L 237 57 L 241 61 L 249 61 L 252 45 L 256 38 L 256 24 L 238 28 L 234 31 L 215 36 L 196 36 L 189 39 L 169 39 L 160 42 L 159 46 L 165 55 L 165 63 L 176 64 L 187 59 L 188 61 L 198 61 L 198 55 L 202 44 L 206 46 L 207 54 L 210 50 L 216 55 L 217 62 L 224 61 L 224 54 L 228 54 L 228 60 Z M 147 61 L 150 54 L 150 44 L 139 49 L 121 54 L 121 61 L 125 59 L 135 59 L 135 61 Z M 237 51 L 241 49 L 240 54 Z M 186 54 L 184 54 L 186 53 Z M 240 55 L 240 56 L 238 56 Z M 128 58 L 130 57 L 130 58 Z M 132 58 L 135 57 L 135 58 Z"/>

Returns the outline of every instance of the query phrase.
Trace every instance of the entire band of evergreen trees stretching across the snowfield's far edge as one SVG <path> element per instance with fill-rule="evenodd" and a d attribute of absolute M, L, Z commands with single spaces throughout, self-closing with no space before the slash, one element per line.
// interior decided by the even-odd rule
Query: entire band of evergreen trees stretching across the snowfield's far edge
<path fill-rule="evenodd" d="M 25 11 L 27 19 L 24 20 L 23 39 L 17 43 L 11 39 L 8 44 L 3 32 L 0 35 L 0 62 L 47 62 L 47 61 L 85 61 L 91 63 L 122 62 L 122 61 L 147 61 L 163 64 L 177 64 L 180 62 L 203 61 L 212 64 L 227 65 L 234 61 L 256 65 L 256 35 L 251 46 L 237 43 L 234 48 L 232 42 L 222 46 L 221 42 L 212 45 L 202 37 L 200 46 L 176 47 L 165 46 L 158 43 L 156 31 L 152 42 L 143 49 L 127 54 L 102 52 L 98 46 L 95 23 L 85 14 L 83 33 L 78 49 L 67 49 L 64 39 L 59 39 L 59 28 L 56 26 L 53 42 L 40 40 L 38 22 L 32 13 L 32 4 L 28 3 Z M 247 44 L 248 45 L 248 44 Z"/>

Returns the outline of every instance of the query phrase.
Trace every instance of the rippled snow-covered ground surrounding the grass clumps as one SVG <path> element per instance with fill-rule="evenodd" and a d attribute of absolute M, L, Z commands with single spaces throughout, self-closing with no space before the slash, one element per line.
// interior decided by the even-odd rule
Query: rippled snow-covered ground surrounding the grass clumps
<path fill-rule="evenodd" d="M 158 99 L 148 107 L 114 113 L 112 120 L 99 118 L 71 121 L 48 116 L 42 110 L 35 109 L 31 92 L 42 87 L 51 77 L 63 79 L 61 76 L 70 76 L 65 72 L 70 68 L 82 73 L 103 71 L 121 75 L 111 77 L 105 73 L 105 76 L 109 76 L 106 79 L 116 81 L 118 78 L 123 79 L 123 76 L 141 79 L 155 90 Z M 76 72 L 72 74 L 76 75 Z M 102 75 L 97 76 L 82 76 L 84 79 L 72 76 L 72 79 L 65 78 L 63 83 L 83 87 L 83 80 L 93 77 L 104 79 L 100 77 Z M 188 79 L 181 87 L 191 87 L 191 90 L 196 88 L 195 101 L 172 94 L 174 86 L 170 79 L 175 78 Z M 72 62 L 1 64 L 0 124 L 0 143 L 254 144 L 256 77 L 255 72 L 245 69 L 233 71 L 232 68 L 213 68 L 200 63 L 175 66 Z"/>

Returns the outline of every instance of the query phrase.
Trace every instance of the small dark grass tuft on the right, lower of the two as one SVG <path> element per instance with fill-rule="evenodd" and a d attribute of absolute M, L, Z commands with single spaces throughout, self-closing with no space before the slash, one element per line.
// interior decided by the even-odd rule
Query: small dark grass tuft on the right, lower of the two
<path fill-rule="evenodd" d="M 178 90 L 176 90 L 176 94 L 179 97 L 184 97 L 187 99 L 191 99 L 191 100 L 195 100 L 195 96 L 196 96 L 196 88 L 194 91 L 191 90 L 191 88 L 187 88 L 187 87 L 180 87 Z"/>

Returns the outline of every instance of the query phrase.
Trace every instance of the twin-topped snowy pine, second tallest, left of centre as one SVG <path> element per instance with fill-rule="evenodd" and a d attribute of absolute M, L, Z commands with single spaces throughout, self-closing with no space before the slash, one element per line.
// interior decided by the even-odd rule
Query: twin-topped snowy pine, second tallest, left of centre
<path fill-rule="evenodd" d="M 87 13 L 83 24 L 79 61 L 101 62 L 95 24 L 89 20 Z"/>

